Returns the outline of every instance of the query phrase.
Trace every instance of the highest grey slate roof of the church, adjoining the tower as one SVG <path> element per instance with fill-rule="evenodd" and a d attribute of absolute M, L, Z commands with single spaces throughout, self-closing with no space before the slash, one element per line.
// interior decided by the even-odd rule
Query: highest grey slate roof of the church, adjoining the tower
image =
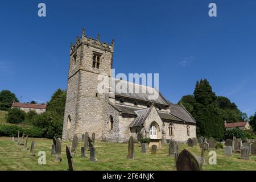
<path fill-rule="evenodd" d="M 116 86 L 117 84 L 118 84 L 118 86 Z M 123 88 L 119 85 L 126 85 L 126 89 L 124 89 L 124 90 L 126 90 L 126 93 L 122 93 Z M 134 88 L 133 93 L 129 93 L 130 86 L 131 86 L 131 88 Z M 138 90 L 139 92 L 135 93 L 135 90 Z M 145 90 L 145 92 L 142 92 L 143 90 Z M 166 101 L 166 99 L 155 88 L 151 88 L 151 87 L 144 86 L 144 85 L 134 84 L 132 82 L 127 82 L 124 80 L 117 80 L 117 79 L 115 80 L 115 96 L 131 98 L 134 100 L 152 102 L 152 100 L 148 99 L 148 96 L 153 96 L 155 92 L 158 92 L 159 96 L 156 100 L 153 100 L 153 101 L 156 104 L 162 104 L 162 105 L 168 106 L 169 104 Z"/>

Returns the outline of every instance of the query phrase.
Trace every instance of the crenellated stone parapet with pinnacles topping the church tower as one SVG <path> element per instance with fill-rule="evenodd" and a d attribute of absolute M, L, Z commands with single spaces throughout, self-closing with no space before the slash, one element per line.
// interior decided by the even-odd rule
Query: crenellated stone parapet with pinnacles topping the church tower
<path fill-rule="evenodd" d="M 97 39 L 94 40 L 93 38 L 88 38 L 85 35 L 85 30 L 82 28 L 82 36 L 79 38 L 76 36 L 76 42 L 75 44 L 71 43 L 70 47 L 70 54 L 72 54 L 74 51 L 76 51 L 77 48 L 79 48 L 82 44 L 85 46 L 91 46 L 98 49 L 101 49 L 102 51 L 108 51 L 108 52 L 114 52 L 114 40 L 112 39 L 112 43 L 108 44 L 105 42 L 100 41 L 100 34 L 98 34 Z"/>

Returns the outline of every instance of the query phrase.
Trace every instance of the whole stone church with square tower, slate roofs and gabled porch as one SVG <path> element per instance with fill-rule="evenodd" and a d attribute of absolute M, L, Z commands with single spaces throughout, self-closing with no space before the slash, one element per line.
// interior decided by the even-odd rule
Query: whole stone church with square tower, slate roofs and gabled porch
<path fill-rule="evenodd" d="M 75 45 L 71 44 L 63 139 L 70 140 L 75 134 L 81 139 L 85 132 L 112 142 L 127 142 L 130 136 L 136 141 L 140 136 L 160 147 L 162 139 L 187 142 L 196 137 L 192 115 L 182 105 L 168 102 L 160 92 L 155 100 L 149 100 L 147 93 L 97 92 L 98 75 L 112 77 L 113 53 L 114 41 L 106 44 L 99 35 L 96 40 L 87 38 L 84 29 Z"/>

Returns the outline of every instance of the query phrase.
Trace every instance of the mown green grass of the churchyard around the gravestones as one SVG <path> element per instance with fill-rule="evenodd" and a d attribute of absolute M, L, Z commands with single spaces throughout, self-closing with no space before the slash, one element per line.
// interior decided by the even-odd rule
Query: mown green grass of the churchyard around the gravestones
<path fill-rule="evenodd" d="M 23 146 L 18 146 L 15 142 L 11 142 L 10 137 L 0 138 L 0 170 L 67 170 L 68 162 L 65 155 L 65 145 L 71 142 L 63 142 L 61 148 L 62 162 L 57 163 L 54 156 L 51 155 L 52 140 L 28 138 L 28 148 L 32 140 L 35 141 L 34 154 L 31 157 L 30 152 L 22 151 Z M 126 143 L 110 143 L 96 141 L 96 154 L 98 162 L 90 162 L 80 155 L 80 148 L 83 143 L 79 142 L 78 152 L 73 156 L 73 164 L 75 170 L 175 170 L 174 157 L 168 155 L 168 146 L 158 149 L 156 155 L 151 155 L 150 150 L 146 154 L 141 153 L 139 144 L 135 144 L 135 159 L 127 159 Z M 185 144 L 179 144 L 179 152 L 187 148 L 200 156 L 201 150 L 199 146 L 187 147 Z M 46 165 L 39 165 L 37 156 L 39 151 L 46 152 Z M 89 154 L 89 151 L 87 151 Z M 224 150 L 216 150 L 217 164 L 204 165 L 203 170 L 256 170 L 256 156 L 251 156 L 250 160 L 239 159 L 240 154 L 233 156 L 225 156 Z M 205 161 L 208 162 L 208 152 L 205 152 Z"/>

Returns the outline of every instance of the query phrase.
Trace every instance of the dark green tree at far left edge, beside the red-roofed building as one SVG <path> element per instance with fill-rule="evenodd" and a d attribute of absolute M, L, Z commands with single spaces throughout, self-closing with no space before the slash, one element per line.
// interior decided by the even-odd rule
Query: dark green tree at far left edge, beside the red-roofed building
<path fill-rule="evenodd" d="M 18 98 L 10 90 L 2 90 L 0 92 L 0 110 L 10 109 L 13 101 L 19 102 Z"/>

